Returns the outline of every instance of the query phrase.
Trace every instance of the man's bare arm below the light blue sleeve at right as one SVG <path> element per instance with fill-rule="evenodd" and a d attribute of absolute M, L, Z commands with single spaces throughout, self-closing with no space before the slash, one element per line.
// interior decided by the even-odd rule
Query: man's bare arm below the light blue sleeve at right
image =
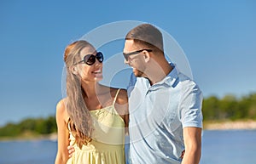
<path fill-rule="evenodd" d="M 201 158 L 201 128 L 184 127 L 185 154 L 182 164 L 198 164 Z"/>

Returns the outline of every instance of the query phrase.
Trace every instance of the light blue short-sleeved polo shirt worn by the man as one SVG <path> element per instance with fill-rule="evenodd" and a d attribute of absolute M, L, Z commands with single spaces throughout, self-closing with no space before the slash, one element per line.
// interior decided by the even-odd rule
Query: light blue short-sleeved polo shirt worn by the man
<path fill-rule="evenodd" d="M 152 86 L 147 78 L 131 75 L 131 163 L 181 163 L 183 127 L 202 127 L 201 90 L 171 65 L 169 75 Z"/>

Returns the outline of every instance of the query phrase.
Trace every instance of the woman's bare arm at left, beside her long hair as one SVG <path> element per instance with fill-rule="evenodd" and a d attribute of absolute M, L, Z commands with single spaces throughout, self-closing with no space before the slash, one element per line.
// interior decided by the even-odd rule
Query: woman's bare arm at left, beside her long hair
<path fill-rule="evenodd" d="M 67 163 L 68 152 L 67 146 L 69 145 L 69 133 L 67 129 L 67 110 L 65 108 L 64 100 L 56 105 L 56 123 L 58 127 L 58 151 L 55 158 L 55 164 Z"/>

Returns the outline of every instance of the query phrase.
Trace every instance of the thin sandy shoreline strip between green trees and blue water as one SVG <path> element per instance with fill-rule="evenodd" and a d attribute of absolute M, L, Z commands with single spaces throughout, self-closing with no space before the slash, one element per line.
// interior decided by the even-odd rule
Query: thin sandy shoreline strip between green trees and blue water
<path fill-rule="evenodd" d="M 256 130 L 256 121 L 216 121 L 216 122 L 203 122 L 204 130 Z M 57 133 L 50 133 L 45 135 L 29 136 L 26 137 L 4 137 L 0 138 L 3 141 L 24 141 L 24 140 L 52 140 L 57 141 Z"/>

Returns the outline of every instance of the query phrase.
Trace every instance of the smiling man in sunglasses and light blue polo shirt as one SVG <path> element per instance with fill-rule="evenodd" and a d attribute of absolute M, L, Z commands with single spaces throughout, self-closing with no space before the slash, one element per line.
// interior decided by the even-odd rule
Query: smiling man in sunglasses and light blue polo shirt
<path fill-rule="evenodd" d="M 138 25 L 125 37 L 124 56 L 133 68 L 127 89 L 131 163 L 199 163 L 201 90 L 167 62 L 161 32 Z"/>

